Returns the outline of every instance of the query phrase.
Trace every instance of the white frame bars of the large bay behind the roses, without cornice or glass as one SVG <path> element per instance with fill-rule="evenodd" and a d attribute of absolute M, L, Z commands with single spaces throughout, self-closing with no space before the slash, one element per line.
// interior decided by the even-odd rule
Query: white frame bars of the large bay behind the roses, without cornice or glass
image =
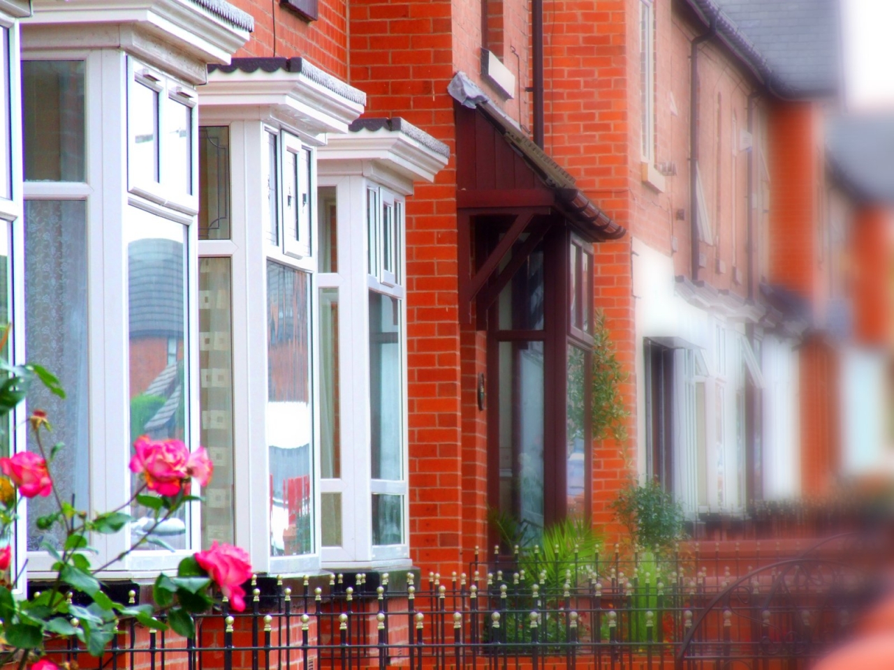
<path fill-rule="evenodd" d="M 178 194 L 165 194 L 156 189 L 159 197 L 128 188 L 127 110 L 125 104 L 130 81 L 129 57 L 121 51 L 89 49 L 58 51 L 26 51 L 23 60 L 80 60 L 85 63 L 85 147 L 87 155 L 84 182 L 32 181 L 23 185 L 25 199 L 84 200 L 87 203 L 88 248 L 88 389 L 89 389 L 89 445 L 90 482 L 89 510 L 93 513 L 117 507 L 130 496 L 130 393 L 129 393 L 129 310 L 127 240 L 122 221 L 134 214 L 133 208 L 144 213 L 180 223 L 185 227 L 187 263 L 186 332 L 184 333 L 184 375 L 198 379 L 198 356 L 193 354 L 198 334 L 198 225 L 195 215 L 187 214 L 175 201 Z M 197 115 L 193 113 L 191 155 L 197 158 Z M 192 171 L 196 180 L 197 171 Z M 193 188 L 195 190 L 195 188 Z M 159 202 L 163 200 L 164 202 Z M 21 230 L 19 227 L 21 240 Z M 18 242 L 17 253 L 24 248 Z M 21 264 L 20 264 L 21 265 Z M 23 273 L 23 271 L 20 271 Z M 21 283 L 21 282 L 20 282 Z M 122 289 L 124 287 L 125 289 Z M 18 313 L 24 323 L 23 289 L 19 290 Z M 23 340 L 22 337 L 19 338 Z M 24 347 L 23 341 L 19 347 Z M 22 352 L 27 356 L 27 352 Z M 188 386 L 190 412 L 184 426 L 184 438 L 192 448 L 198 446 L 198 384 Z M 27 402 L 22 403 L 22 415 L 27 416 Z M 19 435 L 21 433 L 21 437 Z M 24 431 L 17 431 L 16 448 L 27 448 Z M 122 487 L 122 477 L 125 486 Z M 110 565 L 106 578 L 149 578 L 159 570 L 173 569 L 182 557 L 198 549 L 200 518 L 198 508 L 187 510 L 186 549 L 174 552 L 138 550 L 123 561 Z M 27 547 L 27 523 L 22 521 L 19 532 L 21 548 Z M 130 547 L 131 532 L 125 529 L 114 535 L 95 535 L 90 539 L 97 549 L 94 565 L 111 560 Z M 27 552 L 32 578 L 46 578 L 53 574 L 53 560 L 44 551 Z"/>

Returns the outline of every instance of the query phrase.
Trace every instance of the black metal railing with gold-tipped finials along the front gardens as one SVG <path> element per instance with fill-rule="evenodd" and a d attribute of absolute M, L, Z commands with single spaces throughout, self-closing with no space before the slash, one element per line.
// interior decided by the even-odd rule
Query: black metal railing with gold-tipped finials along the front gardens
<path fill-rule="evenodd" d="M 196 617 L 190 640 L 126 621 L 101 659 L 77 641 L 55 653 L 113 670 L 797 668 L 848 635 L 872 583 L 815 556 L 713 576 L 679 556 L 530 565 L 410 573 L 400 588 L 387 574 L 281 581 L 247 612 Z"/>

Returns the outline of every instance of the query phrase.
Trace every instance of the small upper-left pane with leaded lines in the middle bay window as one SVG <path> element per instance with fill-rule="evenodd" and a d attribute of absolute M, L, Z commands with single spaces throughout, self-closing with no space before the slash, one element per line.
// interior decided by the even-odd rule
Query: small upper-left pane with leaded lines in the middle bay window
<path fill-rule="evenodd" d="M 198 129 L 198 239 L 230 239 L 230 127 Z"/>

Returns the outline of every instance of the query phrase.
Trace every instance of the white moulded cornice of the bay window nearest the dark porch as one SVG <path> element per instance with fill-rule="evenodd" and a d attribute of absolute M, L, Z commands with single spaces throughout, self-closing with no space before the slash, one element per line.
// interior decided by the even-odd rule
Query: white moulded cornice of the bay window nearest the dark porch
<path fill-rule="evenodd" d="M 343 135 L 330 135 L 325 147 L 317 153 L 317 170 L 321 173 L 344 172 L 351 163 L 384 168 L 401 177 L 403 195 L 412 193 L 414 181 L 434 181 L 443 170 L 448 156 L 426 147 L 417 138 L 400 130 L 356 130 Z M 393 185 L 396 187 L 397 185 Z"/>

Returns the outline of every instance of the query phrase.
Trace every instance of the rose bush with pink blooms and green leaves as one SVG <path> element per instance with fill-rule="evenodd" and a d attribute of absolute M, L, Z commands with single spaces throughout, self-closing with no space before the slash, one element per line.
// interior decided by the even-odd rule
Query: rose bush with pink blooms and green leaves
<path fill-rule="evenodd" d="M 8 332 L 8 331 L 7 331 Z M 0 348 L 3 342 L 0 341 Z M 5 379 L 2 374 L 5 373 Z M 12 366 L 0 360 L 0 417 L 9 415 L 25 397 L 30 383 L 39 381 L 61 398 L 63 389 L 55 376 L 39 365 Z M 230 599 L 230 607 L 245 607 L 242 583 L 251 577 L 248 554 L 237 547 L 216 542 L 206 551 L 185 557 L 176 574 L 159 574 L 153 586 L 154 605 L 122 605 L 109 598 L 100 581 L 109 565 L 126 557 L 145 542 L 152 541 L 160 524 L 173 518 L 178 510 L 200 498 L 191 495 L 191 484 L 205 487 L 211 481 L 214 465 L 205 448 L 190 449 L 180 440 L 152 440 L 139 437 L 134 443 L 131 471 L 139 477 L 125 505 L 110 512 L 89 515 L 64 502 L 53 482 L 53 463 L 63 445 L 44 447 L 44 434 L 51 430 L 48 417 L 35 411 L 29 417 L 36 451 L 21 452 L 0 458 L 0 665 L 16 662 L 20 668 L 33 663 L 33 670 L 58 670 L 55 663 L 41 658 L 44 643 L 51 637 L 76 637 L 90 654 L 101 656 L 114 637 L 116 621 L 122 616 L 136 618 L 155 630 L 172 628 L 192 637 L 195 624 L 192 616 L 215 606 L 215 587 Z M 18 520 L 21 498 L 54 496 L 55 510 L 37 519 L 38 529 L 62 529 L 62 547 L 44 542 L 41 549 L 54 559 L 56 578 L 50 589 L 28 599 L 13 597 L 14 591 L 26 591 L 20 584 L 21 574 L 8 574 L 13 565 L 13 547 L 9 543 L 13 524 Z M 148 523 L 131 546 L 104 565 L 93 566 L 89 546 L 91 536 L 121 532 L 136 521 L 128 510 L 146 510 Z M 136 533 L 135 533 L 136 535 Z M 86 599 L 71 599 L 78 592 Z M 89 605 L 75 604 L 89 600 Z M 160 616 L 164 615 L 164 616 Z M 77 617 L 79 624 L 72 625 Z M 164 621 L 163 621 L 164 619 Z"/>

